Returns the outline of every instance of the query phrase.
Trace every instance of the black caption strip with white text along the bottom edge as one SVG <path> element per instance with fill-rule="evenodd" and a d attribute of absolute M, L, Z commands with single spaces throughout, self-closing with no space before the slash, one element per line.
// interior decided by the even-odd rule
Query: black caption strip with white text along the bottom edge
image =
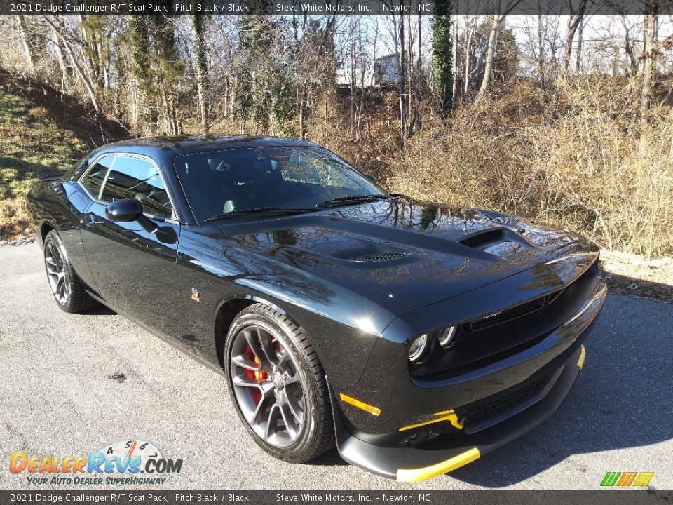
<path fill-rule="evenodd" d="M 2 505 L 418 504 L 664 505 L 673 492 L 597 491 L 0 491 Z"/>

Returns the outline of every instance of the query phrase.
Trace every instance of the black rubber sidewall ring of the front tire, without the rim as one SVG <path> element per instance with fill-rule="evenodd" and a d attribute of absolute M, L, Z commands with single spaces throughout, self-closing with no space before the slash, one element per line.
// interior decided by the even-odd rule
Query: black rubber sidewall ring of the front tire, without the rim
<path fill-rule="evenodd" d="M 245 309 L 247 311 L 249 309 Z M 244 312 L 245 312 L 244 311 Z M 283 340 L 283 344 L 287 344 L 292 348 L 292 354 L 297 358 L 297 363 L 294 363 L 299 373 L 301 380 L 301 386 L 304 389 L 304 415 L 306 416 L 306 422 L 301 431 L 301 436 L 299 440 L 289 447 L 275 447 L 266 443 L 265 440 L 260 438 L 257 433 L 255 433 L 250 425 L 247 423 L 245 417 L 243 417 L 243 412 L 240 411 L 238 406 L 238 400 L 236 400 L 236 394 L 233 390 L 233 384 L 231 380 L 231 370 L 230 370 L 230 360 L 231 360 L 231 347 L 233 345 L 233 340 L 238 333 L 244 328 L 252 325 L 257 325 L 260 328 L 263 328 L 271 335 L 276 335 L 277 337 Z M 241 314 L 236 318 L 229 328 L 229 332 L 226 336 L 226 344 L 224 346 L 224 360 L 225 372 L 227 381 L 229 384 L 229 396 L 231 396 L 231 401 L 236 407 L 236 412 L 243 426 L 247 429 L 248 433 L 252 436 L 254 441 L 266 452 L 272 454 L 278 459 L 285 460 L 304 460 L 304 454 L 311 450 L 311 445 L 313 444 L 313 438 L 316 436 L 316 426 L 318 426 L 317 415 L 318 412 L 315 408 L 317 402 L 317 384 L 312 377 L 312 374 L 308 372 L 308 360 L 306 353 L 301 346 L 297 345 L 294 339 L 294 332 L 287 328 L 284 324 L 276 321 L 276 318 L 267 314 L 264 309 L 254 307 L 250 309 L 246 314 Z"/>

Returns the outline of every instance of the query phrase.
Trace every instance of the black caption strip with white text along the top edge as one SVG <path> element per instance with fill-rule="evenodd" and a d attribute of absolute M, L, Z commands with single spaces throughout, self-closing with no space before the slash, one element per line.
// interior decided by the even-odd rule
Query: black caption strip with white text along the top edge
<path fill-rule="evenodd" d="M 570 15 L 579 0 L 0 0 L 0 15 Z M 254 6 L 254 7 L 253 7 Z M 254 8 L 254 11 L 252 10 Z M 448 8 L 448 11 L 447 11 Z M 602 0 L 585 15 L 673 14 L 673 0 Z"/>

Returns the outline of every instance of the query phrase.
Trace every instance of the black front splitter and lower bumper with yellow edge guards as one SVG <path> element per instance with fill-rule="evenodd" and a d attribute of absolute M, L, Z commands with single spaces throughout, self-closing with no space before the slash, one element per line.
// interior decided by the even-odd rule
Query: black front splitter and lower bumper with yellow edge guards
<path fill-rule="evenodd" d="M 548 342 L 566 342 L 566 350 L 562 353 L 563 361 L 559 363 L 558 359 L 552 360 L 528 379 L 512 386 L 510 390 L 523 391 L 527 387 L 532 393 L 526 398 L 522 396 L 521 402 L 497 415 L 487 417 L 469 429 L 463 429 L 463 414 L 458 408 L 455 411 L 457 415 L 450 410 L 443 412 L 448 415 L 441 419 L 402 427 L 400 432 L 410 428 L 404 433 L 363 433 L 354 429 L 343 415 L 337 398 L 332 393 L 339 454 L 347 462 L 383 477 L 424 480 L 473 462 L 482 454 L 522 436 L 548 419 L 569 393 L 584 365 L 585 349 L 582 343 L 599 314 L 605 297 L 606 286 L 598 277 L 590 297 L 571 318 L 545 339 Z M 523 363 L 519 362 L 519 365 Z M 534 390 L 531 389 L 533 384 L 536 387 Z M 498 393 L 498 401 L 502 402 L 503 393 L 506 396 L 508 391 Z M 439 420 L 448 422 L 437 422 Z M 413 438 L 407 438 L 412 440 L 408 446 L 388 443 L 407 435 L 417 436 L 420 441 L 413 443 Z"/>

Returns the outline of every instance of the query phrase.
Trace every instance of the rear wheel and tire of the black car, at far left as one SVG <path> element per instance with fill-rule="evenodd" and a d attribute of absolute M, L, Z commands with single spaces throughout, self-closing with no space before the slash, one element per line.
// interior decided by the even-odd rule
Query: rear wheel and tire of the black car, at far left
<path fill-rule="evenodd" d="M 49 287 L 62 311 L 77 314 L 96 306 L 75 274 L 60 236 L 53 230 L 44 238 L 44 266 Z"/>

